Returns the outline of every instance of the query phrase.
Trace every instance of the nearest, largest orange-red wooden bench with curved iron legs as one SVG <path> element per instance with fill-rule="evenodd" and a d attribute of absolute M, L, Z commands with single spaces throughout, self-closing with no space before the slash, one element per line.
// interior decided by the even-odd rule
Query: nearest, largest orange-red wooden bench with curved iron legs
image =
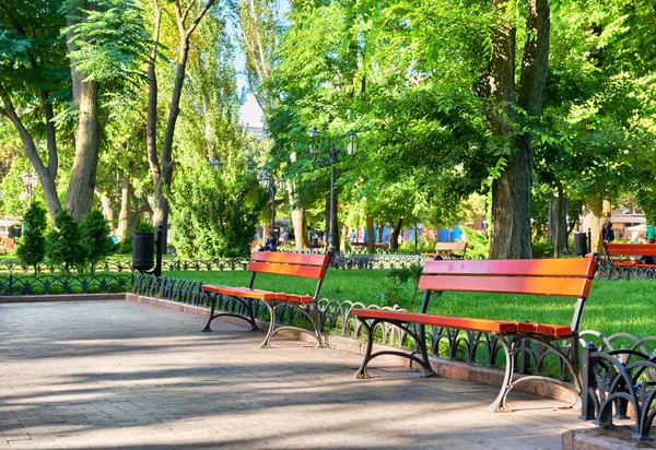
<path fill-rule="evenodd" d="M 426 261 L 419 281 L 419 288 L 425 291 L 421 312 L 402 312 L 378 309 L 353 309 L 353 315 L 362 322 L 367 332 L 364 359 L 356 378 L 368 378 L 367 364 L 380 355 L 397 355 L 419 364 L 424 376 L 435 376 L 426 350 L 425 327 L 459 329 L 473 332 L 492 333 L 505 352 L 505 377 L 496 400 L 490 405 L 493 412 L 507 411 L 506 396 L 511 389 L 524 381 L 544 380 L 561 386 L 581 401 L 581 376 L 578 370 L 578 327 L 588 295 L 593 276 L 597 268 L 594 258 L 558 260 L 476 260 L 476 261 Z M 553 295 L 577 298 L 573 308 L 572 323 L 547 324 L 525 323 L 515 320 L 470 319 L 464 317 L 426 313 L 431 294 L 480 292 L 501 294 Z M 529 306 L 527 306 L 529 307 Z M 417 352 L 380 351 L 372 353 L 374 331 L 380 322 L 399 327 L 410 335 Z M 419 327 L 414 327 L 417 324 Z M 507 341 L 506 341 L 507 339 Z M 528 376 L 513 380 L 516 352 L 522 340 L 532 340 L 546 345 L 558 355 L 572 375 L 574 387 L 548 377 Z M 565 354 L 557 341 L 571 340 L 570 354 Z"/>

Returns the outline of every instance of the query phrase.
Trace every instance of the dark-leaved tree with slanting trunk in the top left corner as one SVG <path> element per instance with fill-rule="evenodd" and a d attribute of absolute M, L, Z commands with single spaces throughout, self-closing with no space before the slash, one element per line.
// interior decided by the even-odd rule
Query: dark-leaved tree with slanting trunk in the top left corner
<path fill-rule="evenodd" d="M 51 220 L 61 211 L 54 118 L 57 105 L 68 97 L 66 47 L 59 39 L 63 26 L 58 1 L 0 3 L 0 116 L 21 137 Z M 44 140 L 47 157 L 38 151 Z"/>

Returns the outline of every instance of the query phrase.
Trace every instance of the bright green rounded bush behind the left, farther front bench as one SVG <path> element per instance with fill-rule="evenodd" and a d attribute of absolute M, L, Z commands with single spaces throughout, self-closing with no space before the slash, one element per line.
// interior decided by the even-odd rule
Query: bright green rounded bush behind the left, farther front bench
<path fill-rule="evenodd" d="M 250 252 L 260 210 L 267 194 L 254 175 L 242 167 L 223 173 L 208 164 L 180 167 L 167 193 L 173 242 L 183 256 L 236 257 Z"/>

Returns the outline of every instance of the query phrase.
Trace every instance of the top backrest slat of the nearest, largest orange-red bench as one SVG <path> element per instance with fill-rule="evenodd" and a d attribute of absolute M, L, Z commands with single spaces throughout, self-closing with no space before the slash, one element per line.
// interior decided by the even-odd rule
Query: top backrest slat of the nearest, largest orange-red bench
<path fill-rule="evenodd" d="M 426 261 L 423 274 L 591 277 L 596 262 L 588 258 L 569 260 L 475 260 Z"/>

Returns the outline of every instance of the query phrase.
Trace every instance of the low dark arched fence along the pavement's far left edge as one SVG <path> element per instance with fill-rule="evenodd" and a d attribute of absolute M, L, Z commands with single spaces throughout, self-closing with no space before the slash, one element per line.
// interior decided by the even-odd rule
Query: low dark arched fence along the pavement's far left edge
<path fill-rule="evenodd" d="M 132 276 L 130 273 L 0 275 L 0 296 L 124 293 L 131 286 Z"/>

